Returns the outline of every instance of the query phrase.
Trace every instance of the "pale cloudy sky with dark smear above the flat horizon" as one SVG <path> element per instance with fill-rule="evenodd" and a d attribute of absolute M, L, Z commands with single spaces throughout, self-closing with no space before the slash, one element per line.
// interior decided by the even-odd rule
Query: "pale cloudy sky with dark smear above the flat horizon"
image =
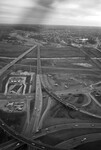
<path fill-rule="evenodd" d="M 0 0 L 0 23 L 101 26 L 101 0 Z"/>

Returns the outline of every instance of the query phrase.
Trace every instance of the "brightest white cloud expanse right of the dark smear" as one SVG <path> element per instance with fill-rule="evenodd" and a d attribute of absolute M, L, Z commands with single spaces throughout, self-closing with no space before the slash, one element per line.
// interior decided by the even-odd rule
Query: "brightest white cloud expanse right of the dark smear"
<path fill-rule="evenodd" d="M 101 0 L 67 0 L 57 3 L 55 8 L 48 24 L 101 26 Z"/>

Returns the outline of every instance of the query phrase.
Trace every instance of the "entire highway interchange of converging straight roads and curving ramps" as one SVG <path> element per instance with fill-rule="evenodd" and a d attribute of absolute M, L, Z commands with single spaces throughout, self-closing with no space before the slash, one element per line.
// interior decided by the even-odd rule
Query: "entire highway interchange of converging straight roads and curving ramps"
<path fill-rule="evenodd" d="M 70 104 L 70 103 L 65 103 L 65 101 L 63 99 L 61 99 L 56 93 L 54 93 L 53 91 L 50 91 L 44 84 L 44 81 L 42 79 L 42 71 L 44 72 L 44 69 L 46 72 L 48 71 L 63 71 L 63 72 L 69 72 L 69 71 L 73 71 L 73 72 L 78 72 L 78 69 L 71 69 L 71 68 L 49 68 L 49 67 L 41 67 L 41 59 L 40 59 L 40 46 L 33 46 L 32 48 L 30 48 L 28 51 L 26 51 L 25 53 L 23 53 L 22 55 L 20 55 L 18 58 L 15 58 L 13 61 L 11 61 L 9 64 L 7 64 L 5 67 L 3 67 L 0 70 L 0 76 L 10 67 L 12 67 L 15 63 L 17 63 L 19 60 L 21 60 L 25 55 L 27 55 L 28 53 L 30 53 L 32 50 L 36 50 L 35 48 L 37 47 L 37 73 L 36 73 L 36 92 L 35 92 L 35 106 L 34 106 L 34 110 L 33 110 L 33 114 L 31 117 L 30 122 L 26 122 L 25 128 L 23 130 L 22 134 L 16 133 L 15 131 L 13 131 L 7 124 L 5 124 L 5 122 L 3 122 L 3 120 L 0 120 L 0 127 L 5 130 L 8 134 L 10 134 L 14 140 L 10 140 L 9 142 L 7 142 L 6 144 L 2 144 L 1 145 L 1 149 L 5 148 L 5 149 L 16 149 L 20 146 L 22 146 L 23 144 L 27 144 L 29 146 L 29 148 L 33 147 L 33 149 L 45 149 L 45 150 L 55 150 L 55 149 L 62 149 L 62 147 L 70 149 L 72 148 L 72 146 L 77 146 L 81 143 L 86 143 L 86 142 L 91 142 L 91 141 L 96 141 L 96 140 L 100 140 L 101 139 L 101 133 L 92 133 L 92 134 L 86 134 L 86 135 L 82 135 L 82 136 L 78 136 L 75 138 L 75 142 L 74 142 L 74 138 L 71 138 L 70 140 L 64 141 L 62 143 L 57 144 L 55 147 L 46 145 L 46 144 L 40 144 L 39 142 L 36 141 L 37 138 L 40 138 L 42 136 L 45 136 L 47 134 L 50 133 L 55 133 L 64 129 L 82 129 L 82 128 L 93 128 L 93 129 L 101 129 L 101 123 L 85 123 L 85 122 L 76 122 L 76 123 L 65 123 L 61 124 L 61 125 L 53 125 L 50 126 L 48 128 L 42 129 L 41 131 L 39 130 L 39 125 L 40 125 L 40 118 L 41 118 L 41 111 L 42 111 L 42 103 L 43 103 L 43 96 L 42 96 L 42 88 L 45 90 L 45 92 L 49 95 L 49 97 L 55 99 L 57 102 L 59 102 L 61 105 L 66 106 L 67 108 L 72 108 L 75 111 L 80 111 L 81 113 L 86 113 L 88 115 L 92 115 L 89 114 L 88 112 L 85 112 L 83 110 L 78 109 L 77 107 L 75 107 L 74 105 Z M 86 55 L 88 55 L 86 53 Z M 93 61 L 95 63 L 95 61 Z M 99 63 L 96 63 L 96 65 L 98 66 Z M 98 68 L 100 68 L 100 65 L 98 66 Z M 48 71 L 47 71 L 48 70 Z M 94 70 L 83 70 L 80 69 L 80 71 L 84 71 L 84 73 L 88 73 L 88 74 L 92 74 L 92 72 L 94 72 Z M 97 73 L 98 71 L 98 73 Z M 99 74 L 100 70 L 96 69 L 96 73 L 95 74 Z M 91 95 L 90 95 L 91 96 Z M 32 96 L 33 97 L 33 96 Z M 94 99 L 95 100 L 95 99 Z M 96 102 L 96 100 L 95 100 Z M 29 105 L 29 104 L 28 104 Z M 48 105 L 47 105 L 48 107 Z M 46 108 L 47 109 L 47 108 Z M 29 109 L 27 110 L 29 111 Z M 28 115 L 29 117 L 29 115 Z M 96 115 L 93 117 L 96 117 Z M 101 118 L 100 118 L 101 119 Z M 33 135 L 35 134 L 35 135 Z M 26 135 L 28 137 L 26 137 Z M 95 136 L 97 136 L 98 138 L 95 139 Z M 33 138 L 32 138 L 33 137 Z M 64 146 L 65 145 L 65 146 Z"/>

